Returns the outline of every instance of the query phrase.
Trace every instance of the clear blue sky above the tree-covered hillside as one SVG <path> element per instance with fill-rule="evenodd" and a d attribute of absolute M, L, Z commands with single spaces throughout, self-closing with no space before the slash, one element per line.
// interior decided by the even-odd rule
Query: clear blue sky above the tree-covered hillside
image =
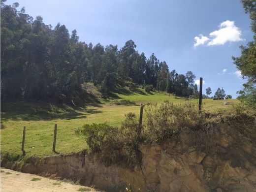
<path fill-rule="evenodd" d="M 232 56 L 253 39 L 240 0 L 7 0 L 19 2 L 33 18 L 53 28 L 60 22 L 80 41 L 118 45 L 132 39 L 137 50 L 152 53 L 169 69 L 203 77 L 203 90 L 223 87 L 236 97 L 245 82 Z M 222 26 L 220 26 L 222 24 Z M 222 29 L 222 30 L 221 30 Z M 210 33 L 212 35 L 210 35 Z M 201 34 L 201 35 L 200 35 Z M 196 44 L 195 37 L 199 38 Z M 203 37 L 203 38 L 202 38 Z M 205 41 L 203 40 L 205 39 Z M 202 43 L 203 42 L 203 43 Z M 201 43 L 201 44 L 200 44 Z"/>

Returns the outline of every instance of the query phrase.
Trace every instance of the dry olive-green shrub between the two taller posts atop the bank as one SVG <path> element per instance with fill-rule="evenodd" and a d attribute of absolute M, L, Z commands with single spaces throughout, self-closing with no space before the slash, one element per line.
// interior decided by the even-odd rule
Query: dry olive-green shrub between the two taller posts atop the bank
<path fill-rule="evenodd" d="M 160 104 L 148 104 L 146 112 L 147 138 L 158 143 L 179 133 L 181 128 L 200 127 L 200 114 L 190 103 L 174 105 L 168 100 Z"/>

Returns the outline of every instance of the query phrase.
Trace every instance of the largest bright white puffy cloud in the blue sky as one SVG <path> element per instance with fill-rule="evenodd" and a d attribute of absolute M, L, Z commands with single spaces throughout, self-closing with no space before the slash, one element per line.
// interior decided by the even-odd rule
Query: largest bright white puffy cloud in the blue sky
<path fill-rule="evenodd" d="M 199 36 L 195 36 L 194 47 L 198 45 L 204 45 L 207 42 L 208 46 L 212 45 L 224 45 L 226 42 L 238 42 L 243 41 L 245 39 L 241 38 L 242 32 L 241 30 L 235 26 L 234 21 L 226 20 L 222 22 L 219 26 L 219 30 L 211 32 L 209 37 L 203 36 L 199 34 Z"/>

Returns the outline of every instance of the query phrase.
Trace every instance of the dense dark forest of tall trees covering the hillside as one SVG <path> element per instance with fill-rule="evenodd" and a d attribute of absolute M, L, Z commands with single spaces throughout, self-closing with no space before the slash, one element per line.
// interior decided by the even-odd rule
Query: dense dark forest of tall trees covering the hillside
<path fill-rule="evenodd" d="M 169 71 L 154 53 L 150 58 L 138 53 L 132 40 L 120 49 L 93 46 L 79 41 L 76 30 L 70 35 L 60 23 L 53 29 L 18 6 L 1 0 L 1 99 L 71 98 L 82 95 L 87 82 L 104 97 L 127 85 L 148 85 L 177 96 L 197 94 L 192 71 Z"/>

